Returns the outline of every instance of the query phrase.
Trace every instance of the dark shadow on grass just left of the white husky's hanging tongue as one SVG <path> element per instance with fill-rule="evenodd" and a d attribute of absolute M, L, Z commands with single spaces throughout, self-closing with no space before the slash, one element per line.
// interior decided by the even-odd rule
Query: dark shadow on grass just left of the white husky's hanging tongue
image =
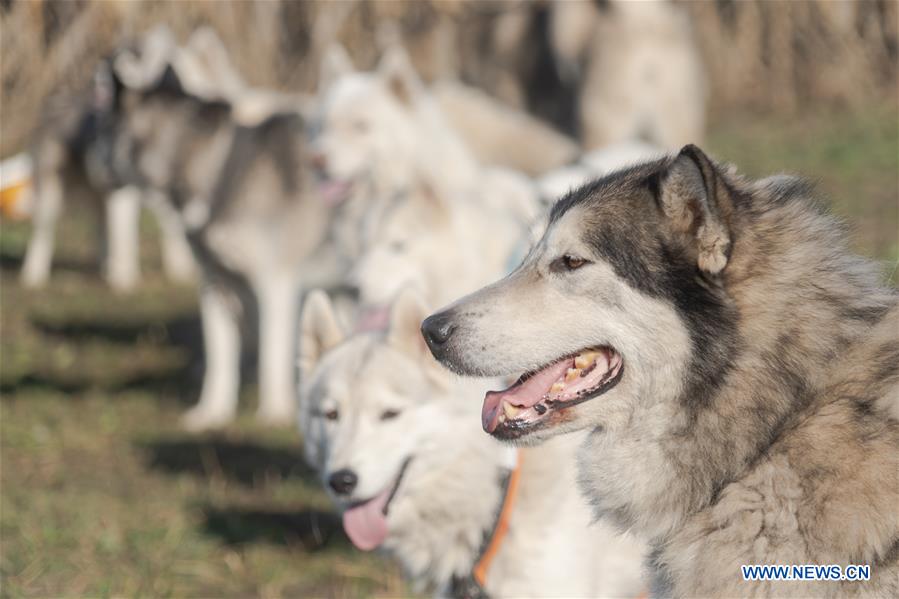
<path fill-rule="evenodd" d="M 331 543 L 349 548 L 340 517 L 319 510 L 280 511 L 207 507 L 203 531 L 228 545 L 268 543 L 316 551 Z"/>

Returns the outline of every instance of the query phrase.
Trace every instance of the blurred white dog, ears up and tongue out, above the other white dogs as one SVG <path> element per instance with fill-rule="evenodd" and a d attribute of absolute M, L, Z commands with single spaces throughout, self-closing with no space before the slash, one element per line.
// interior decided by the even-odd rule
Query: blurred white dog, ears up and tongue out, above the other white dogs
<path fill-rule="evenodd" d="M 350 222 L 377 220 L 422 183 L 446 199 L 477 197 L 533 217 L 536 188 L 520 173 L 478 164 L 400 46 L 391 46 L 372 72 L 355 71 L 346 52 L 334 46 L 320 79 L 313 143 L 322 195 L 333 203 L 365 198 L 359 206 L 369 215 Z M 338 233 L 350 253 L 364 249 L 364 231 Z"/>

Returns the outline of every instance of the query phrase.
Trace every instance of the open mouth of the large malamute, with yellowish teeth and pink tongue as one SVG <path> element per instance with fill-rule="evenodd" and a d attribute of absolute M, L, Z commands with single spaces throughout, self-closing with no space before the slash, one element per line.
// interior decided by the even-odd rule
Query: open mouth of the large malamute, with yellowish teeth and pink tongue
<path fill-rule="evenodd" d="M 488 391 L 481 420 L 484 430 L 517 439 L 547 424 L 554 414 L 599 397 L 624 373 L 621 356 L 611 347 L 581 350 L 523 374 L 502 391 Z"/>

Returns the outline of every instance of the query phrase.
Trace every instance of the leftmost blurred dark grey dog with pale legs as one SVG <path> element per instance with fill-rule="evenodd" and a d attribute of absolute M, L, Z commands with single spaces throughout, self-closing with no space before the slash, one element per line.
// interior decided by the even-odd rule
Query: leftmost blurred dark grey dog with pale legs
<path fill-rule="evenodd" d="M 117 291 L 133 289 L 140 278 L 138 225 L 142 200 L 153 209 L 162 233 L 166 274 L 178 281 L 192 279 L 193 260 L 177 217 L 155 194 L 132 184 L 127 176 L 129 156 L 115 143 L 123 118 L 126 83 L 116 69 L 127 56 L 131 70 L 152 61 L 162 30 L 123 47 L 98 62 L 83 89 L 60 91 L 47 98 L 41 126 L 31 147 L 34 164 L 34 230 L 29 239 L 22 282 L 45 284 L 50 276 L 56 224 L 63 208 L 75 197 L 102 221 L 103 271 Z M 128 61 L 125 61 L 128 62 Z"/>

